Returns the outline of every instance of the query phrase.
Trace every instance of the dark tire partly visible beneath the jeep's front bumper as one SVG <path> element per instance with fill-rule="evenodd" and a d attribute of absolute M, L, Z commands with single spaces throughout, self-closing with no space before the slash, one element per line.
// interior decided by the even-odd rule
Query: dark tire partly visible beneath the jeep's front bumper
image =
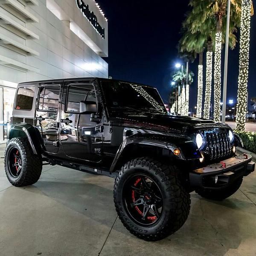
<path fill-rule="evenodd" d="M 196 190 L 198 195 L 201 195 L 203 198 L 207 198 L 215 201 L 222 201 L 226 198 L 229 198 L 231 195 L 236 193 L 240 188 L 241 183 L 243 182 L 243 177 L 235 180 L 230 186 L 227 186 L 220 190 Z"/>

